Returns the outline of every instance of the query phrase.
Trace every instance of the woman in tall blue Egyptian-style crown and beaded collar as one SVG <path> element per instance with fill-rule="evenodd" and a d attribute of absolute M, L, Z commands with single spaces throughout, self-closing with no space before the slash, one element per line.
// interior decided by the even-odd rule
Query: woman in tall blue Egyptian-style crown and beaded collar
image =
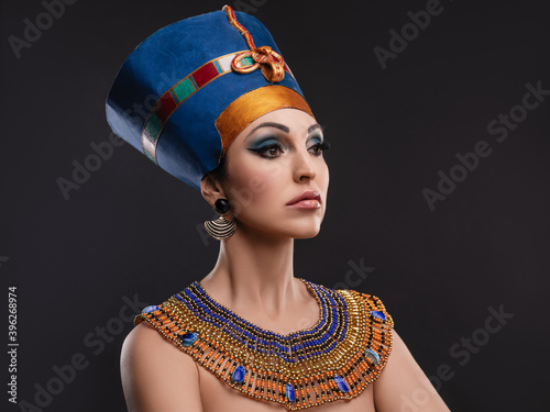
<path fill-rule="evenodd" d="M 448 411 L 380 299 L 294 276 L 294 238 L 324 215 L 328 144 L 257 20 L 224 7 L 156 32 L 119 71 L 108 119 L 220 214 L 205 224 L 213 269 L 124 341 L 130 411 Z"/>

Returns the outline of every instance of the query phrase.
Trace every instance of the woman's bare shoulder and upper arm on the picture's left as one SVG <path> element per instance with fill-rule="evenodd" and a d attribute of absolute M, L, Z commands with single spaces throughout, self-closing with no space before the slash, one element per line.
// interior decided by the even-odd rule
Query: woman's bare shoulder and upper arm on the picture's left
<path fill-rule="evenodd" d="M 125 337 L 120 370 L 129 412 L 202 411 L 195 361 L 146 322 Z"/>

